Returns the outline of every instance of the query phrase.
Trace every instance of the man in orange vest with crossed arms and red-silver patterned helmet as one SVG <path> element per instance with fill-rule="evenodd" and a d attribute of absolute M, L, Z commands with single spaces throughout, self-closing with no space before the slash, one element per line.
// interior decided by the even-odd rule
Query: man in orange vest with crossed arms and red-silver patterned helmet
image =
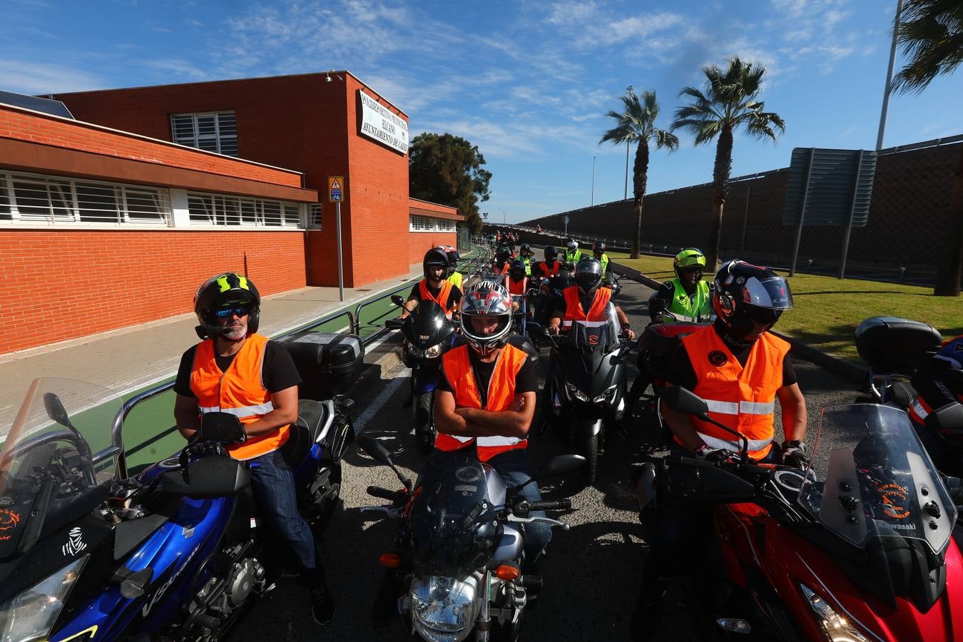
<path fill-rule="evenodd" d="M 538 380 L 529 355 L 508 344 L 508 291 L 494 281 L 473 284 L 461 299 L 459 323 L 467 345 L 442 356 L 434 398 L 438 427 L 434 448 L 444 452 L 474 447 L 479 459 L 497 470 L 509 488 L 519 486 L 534 476 L 525 449 Z M 534 482 L 520 494 L 526 500 L 541 501 Z M 531 514 L 545 515 L 542 511 Z M 525 526 L 526 565 L 534 564 L 551 536 L 545 524 Z"/>

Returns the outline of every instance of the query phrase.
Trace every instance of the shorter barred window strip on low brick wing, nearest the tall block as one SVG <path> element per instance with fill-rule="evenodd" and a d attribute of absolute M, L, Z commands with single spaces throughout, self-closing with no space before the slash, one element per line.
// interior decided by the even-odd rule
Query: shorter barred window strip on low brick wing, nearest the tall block
<path fill-rule="evenodd" d="M 194 225 L 298 227 L 300 224 L 298 203 L 189 192 L 187 205 Z"/>

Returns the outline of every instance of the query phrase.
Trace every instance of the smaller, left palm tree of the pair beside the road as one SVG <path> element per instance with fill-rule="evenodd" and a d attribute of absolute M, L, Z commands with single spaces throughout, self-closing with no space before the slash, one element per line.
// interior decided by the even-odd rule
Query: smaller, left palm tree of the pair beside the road
<path fill-rule="evenodd" d="M 632 167 L 632 193 L 635 196 L 636 233 L 632 235 L 632 258 L 638 259 L 638 246 L 642 234 L 642 198 L 649 177 L 649 141 L 655 142 L 657 149 L 667 147 L 669 151 L 679 148 L 679 138 L 664 129 L 656 127 L 659 117 L 659 103 L 655 91 L 642 91 L 641 99 L 630 87 L 621 97 L 622 113 L 609 112 L 606 116 L 615 119 L 615 126 L 602 135 L 603 142 L 631 145 L 638 142 L 636 161 Z"/>

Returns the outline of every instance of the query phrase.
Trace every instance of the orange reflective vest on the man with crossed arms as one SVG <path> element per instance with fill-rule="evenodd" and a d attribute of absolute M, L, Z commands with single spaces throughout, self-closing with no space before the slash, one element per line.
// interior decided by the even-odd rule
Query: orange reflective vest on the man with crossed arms
<path fill-rule="evenodd" d="M 445 352 L 441 357 L 441 368 L 445 378 L 452 386 L 457 408 L 481 408 L 481 392 L 475 380 L 475 371 L 468 356 L 468 346 L 459 346 Z M 507 344 L 496 357 L 495 370 L 488 382 L 488 398 L 484 404 L 485 410 L 499 412 L 508 409 L 515 400 L 515 376 L 525 364 L 528 355 L 524 350 Z M 529 444 L 527 439 L 519 437 L 462 437 L 439 432 L 434 440 L 434 447 L 439 450 L 457 450 L 467 448 L 473 441 L 478 442 L 479 459 L 488 461 L 500 452 L 512 449 L 523 449 Z"/>

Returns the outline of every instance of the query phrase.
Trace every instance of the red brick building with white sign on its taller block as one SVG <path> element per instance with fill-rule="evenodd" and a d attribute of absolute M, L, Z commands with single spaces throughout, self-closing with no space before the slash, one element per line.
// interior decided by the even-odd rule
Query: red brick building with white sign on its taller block
<path fill-rule="evenodd" d="M 0 95 L 0 354 L 182 314 L 212 270 L 336 285 L 328 176 L 347 287 L 455 244 L 455 209 L 408 198 L 407 116 L 350 73 L 60 98 L 77 119 Z"/>

